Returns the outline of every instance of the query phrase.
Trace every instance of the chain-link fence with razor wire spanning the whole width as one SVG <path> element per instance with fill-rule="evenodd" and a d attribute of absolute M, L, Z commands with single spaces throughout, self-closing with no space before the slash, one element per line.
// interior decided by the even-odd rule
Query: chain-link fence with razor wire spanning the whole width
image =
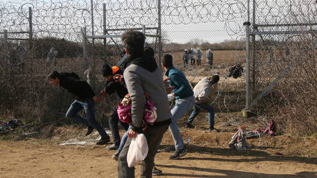
<path fill-rule="evenodd" d="M 316 75 L 314 1 L 1 1 L 0 17 L 1 101 L 6 103 L 1 110 L 23 117 L 25 113 L 33 118 L 50 118 L 45 119 L 48 121 L 63 117 L 71 97 L 48 86 L 45 76 L 52 70 L 74 71 L 85 79 L 83 73 L 89 68 L 92 86 L 99 92 L 103 86 L 101 66 L 116 65 L 121 59 L 120 36 L 127 29 L 147 34 L 147 46 L 154 48 L 158 62 L 165 53 L 172 54 L 175 66 L 183 70 L 193 85 L 203 77 L 219 73 L 221 87 L 213 105 L 216 112 L 229 113 L 227 117 L 232 121 L 232 114 L 245 106 L 256 108 L 253 111 L 265 115 L 265 121 L 282 113 L 273 108 L 292 108 L 294 100 L 276 100 L 285 97 L 287 91 L 276 92 L 270 87 L 270 98 L 262 91 L 276 81 L 274 88 L 295 85 L 296 80 L 291 80 L 294 76 L 288 77 L 289 71 L 299 70 L 303 63 L 308 69 L 301 68 L 303 71 L 296 73 L 300 74 L 296 79 L 302 73 Z M 247 36 L 245 21 L 251 25 Z M 249 63 L 245 63 L 246 37 L 251 37 Z M 184 67 L 185 49 L 197 52 L 198 48 L 203 54 L 201 66 L 195 63 Z M 214 53 L 212 68 L 206 61 L 209 49 Z M 238 79 L 228 77 L 228 69 L 238 64 L 250 72 L 245 71 Z M 316 89 L 314 80 L 300 83 L 309 86 L 303 86 L 300 95 Z M 245 95 L 246 89 L 249 95 Z M 313 98 L 309 103 L 315 101 L 316 93 L 308 93 L 309 99 Z M 61 97 L 57 99 L 57 95 Z M 111 95 L 96 109 L 102 122 L 116 108 L 117 101 Z M 287 107 L 285 103 L 289 103 Z M 307 113 L 316 111 L 315 105 L 310 106 Z M 309 116 L 316 118 L 313 114 Z"/>

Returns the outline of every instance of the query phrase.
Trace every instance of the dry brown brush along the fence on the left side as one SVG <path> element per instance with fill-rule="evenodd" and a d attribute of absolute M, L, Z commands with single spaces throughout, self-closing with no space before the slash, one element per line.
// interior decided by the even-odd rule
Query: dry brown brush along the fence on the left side
<path fill-rule="evenodd" d="M 101 76 L 101 68 L 105 63 L 103 56 L 83 59 L 79 57 L 82 54 L 81 46 L 62 39 L 37 39 L 32 44 L 33 49 L 28 50 L 28 53 L 23 56 L 23 66 L 8 63 L 7 60 L 0 61 L 0 109 L 3 115 L 9 112 L 26 122 L 47 123 L 65 119 L 65 112 L 74 101 L 74 97 L 61 87 L 50 86 L 47 76 L 54 70 L 76 72 L 81 79 L 85 80 L 83 72 L 87 68 L 84 66 L 88 63 L 90 68 L 95 66 L 96 75 L 92 77 L 94 92 L 98 94 L 103 88 L 104 79 Z M 68 48 L 63 49 L 65 46 Z M 14 51 L 13 47 L 14 45 L 11 47 L 8 44 L 6 48 L 1 46 L 1 59 L 11 60 L 14 57 L 10 55 L 12 54 L 10 51 Z M 59 51 L 57 66 L 46 66 L 45 58 L 52 47 Z M 94 49 L 99 50 L 101 46 L 96 44 Z M 111 53 L 110 51 L 108 52 Z M 112 61 L 108 63 L 114 64 L 119 57 L 112 56 L 109 59 Z M 107 125 L 110 112 L 116 108 L 115 99 L 116 97 L 108 97 L 106 101 L 96 103 L 96 119 L 103 126 Z M 83 112 L 82 114 L 84 115 Z"/>

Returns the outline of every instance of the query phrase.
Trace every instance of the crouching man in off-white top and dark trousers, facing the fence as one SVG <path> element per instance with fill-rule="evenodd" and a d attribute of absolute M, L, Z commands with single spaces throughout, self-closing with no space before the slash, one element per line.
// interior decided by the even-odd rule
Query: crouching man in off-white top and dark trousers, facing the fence
<path fill-rule="evenodd" d="M 214 128 L 214 108 L 209 104 L 210 99 L 214 97 L 214 93 L 218 88 L 219 75 L 213 75 L 212 77 L 205 77 L 199 81 L 194 87 L 195 105 L 190 118 L 187 120 L 186 127 L 194 128 L 192 123 L 195 117 L 199 114 L 201 109 L 208 112 L 209 132 L 212 130 L 218 131 Z"/>

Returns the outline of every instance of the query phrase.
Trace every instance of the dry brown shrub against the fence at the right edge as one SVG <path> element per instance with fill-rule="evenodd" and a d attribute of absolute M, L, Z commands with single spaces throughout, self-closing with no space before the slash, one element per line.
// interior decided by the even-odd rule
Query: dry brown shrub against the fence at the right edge
<path fill-rule="evenodd" d="M 275 42 L 262 57 L 257 73 L 258 90 L 263 90 L 288 66 L 292 65 L 276 86 L 256 106 L 258 112 L 276 119 L 281 132 L 311 135 L 317 132 L 317 58 L 316 38 L 292 37 L 287 43 Z M 267 63 L 263 62 L 266 61 Z"/>

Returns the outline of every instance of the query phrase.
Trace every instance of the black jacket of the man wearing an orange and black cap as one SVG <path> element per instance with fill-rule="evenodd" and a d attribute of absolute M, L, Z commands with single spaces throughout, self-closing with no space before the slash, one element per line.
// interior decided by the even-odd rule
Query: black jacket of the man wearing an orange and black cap
<path fill-rule="evenodd" d="M 119 69 L 114 73 L 114 75 L 120 74 L 123 75 L 123 71 Z M 109 95 L 116 92 L 119 98 L 123 99 L 125 95 L 127 95 L 127 88 L 125 88 L 125 81 L 122 80 L 121 82 L 116 82 L 114 79 L 111 79 L 111 81 L 108 81 L 105 83 L 105 87 L 103 88 L 105 92 L 107 92 Z"/>

